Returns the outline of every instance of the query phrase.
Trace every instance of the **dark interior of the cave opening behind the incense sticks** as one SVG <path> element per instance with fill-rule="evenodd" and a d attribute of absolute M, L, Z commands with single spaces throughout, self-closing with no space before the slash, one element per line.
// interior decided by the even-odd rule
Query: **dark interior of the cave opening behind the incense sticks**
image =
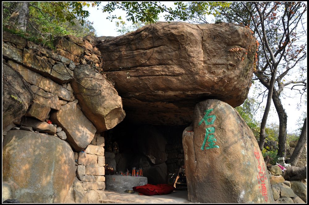
<path fill-rule="evenodd" d="M 142 169 L 147 183 L 173 186 L 180 168 L 184 170 L 182 132 L 187 126 L 136 124 L 125 118 L 104 132 L 105 177 L 132 176 L 135 167 L 135 175 Z M 184 174 L 177 181 L 176 189 L 187 190 Z"/>

